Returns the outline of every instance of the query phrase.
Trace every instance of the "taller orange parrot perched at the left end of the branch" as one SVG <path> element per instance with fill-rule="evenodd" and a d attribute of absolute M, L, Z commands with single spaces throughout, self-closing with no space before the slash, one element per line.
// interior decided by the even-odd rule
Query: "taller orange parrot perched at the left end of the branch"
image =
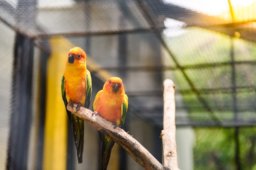
<path fill-rule="evenodd" d="M 86 54 L 80 47 L 71 48 L 68 52 L 66 68 L 61 81 L 61 93 L 71 123 L 78 163 L 82 163 L 84 121 L 67 110 L 68 103 L 72 107 L 76 103 L 77 111 L 81 106 L 88 108 L 91 102 L 92 77 L 86 68 Z"/>

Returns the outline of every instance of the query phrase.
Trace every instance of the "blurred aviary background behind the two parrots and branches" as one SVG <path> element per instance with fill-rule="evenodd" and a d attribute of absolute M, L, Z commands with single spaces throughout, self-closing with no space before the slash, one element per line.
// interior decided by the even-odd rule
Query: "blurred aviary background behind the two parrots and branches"
<path fill-rule="evenodd" d="M 92 102 L 110 76 L 125 131 L 162 162 L 162 82 L 175 83 L 182 170 L 256 170 L 254 0 L 0 0 L 0 169 L 98 170 L 85 123 L 78 165 L 61 98 L 70 48 L 87 54 Z M 108 170 L 141 170 L 115 144 Z"/>

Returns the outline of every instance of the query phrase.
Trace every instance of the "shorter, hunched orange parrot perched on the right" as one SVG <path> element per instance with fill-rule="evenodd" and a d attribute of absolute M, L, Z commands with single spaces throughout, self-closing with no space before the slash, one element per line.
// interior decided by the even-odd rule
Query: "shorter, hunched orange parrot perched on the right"
<path fill-rule="evenodd" d="M 93 102 L 93 113 L 101 116 L 102 118 L 112 122 L 114 128 L 124 126 L 126 113 L 128 109 L 128 97 L 124 92 L 124 85 L 121 78 L 111 77 L 103 85 Z M 113 139 L 99 132 L 101 139 L 101 169 L 106 170 L 112 147 L 115 142 Z"/>

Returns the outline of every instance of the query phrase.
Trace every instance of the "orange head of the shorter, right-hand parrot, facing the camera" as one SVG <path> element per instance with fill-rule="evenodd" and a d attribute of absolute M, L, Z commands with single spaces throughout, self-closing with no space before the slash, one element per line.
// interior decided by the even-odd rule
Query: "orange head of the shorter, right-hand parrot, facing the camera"
<path fill-rule="evenodd" d="M 122 79 L 119 77 L 111 77 L 104 84 L 103 89 L 109 93 L 121 94 L 124 93 L 124 85 Z"/>

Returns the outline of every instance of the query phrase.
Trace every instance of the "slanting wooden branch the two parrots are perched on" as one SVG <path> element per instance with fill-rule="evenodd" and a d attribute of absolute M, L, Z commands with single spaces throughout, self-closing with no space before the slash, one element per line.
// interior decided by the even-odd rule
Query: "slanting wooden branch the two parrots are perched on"
<path fill-rule="evenodd" d="M 123 129 L 117 127 L 114 129 L 114 125 L 108 122 L 106 119 L 100 116 L 92 116 L 90 109 L 80 107 L 76 111 L 76 104 L 73 108 L 67 105 L 67 109 L 74 115 L 82 118 L 85 122 L 88 122 L 98 131 L 111 137 L 117 144 L 119 144 L 124 150 L 126 150 L 132 158 L 145 170 L 170 170 L 168 167 L 164 167 L 153 155 L 151 155 L 146 148 L 144 148 L 136 139 L 126 133 Z"/>

